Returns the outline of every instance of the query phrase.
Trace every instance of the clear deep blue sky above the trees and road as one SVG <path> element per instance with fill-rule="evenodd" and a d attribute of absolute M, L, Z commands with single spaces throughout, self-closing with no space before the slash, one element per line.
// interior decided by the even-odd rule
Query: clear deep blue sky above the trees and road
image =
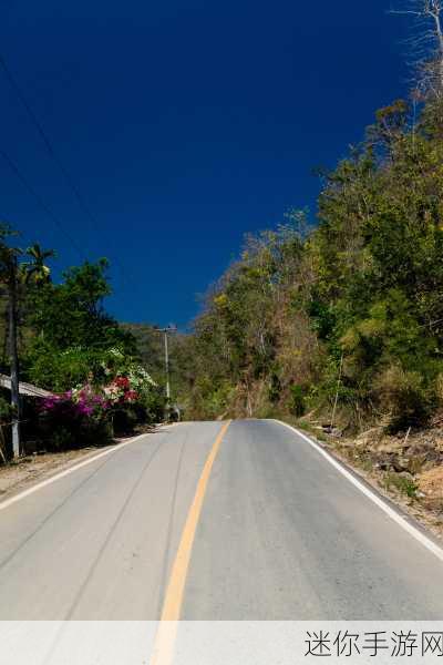
<path fill-rule="evenodd" d="M 82 253 L 111 259 L 122 320 L 185 326 L 244 234 L 289 206 L 315 214 L 312 168 L 408 90 L 408 27 L 390 0 L 9 4 L 1 53 L 94 223 L 1 71 L 0 149 Z M 0 216 L 23 243 L 79 263 L 1 156 L 0 177 Z"/>

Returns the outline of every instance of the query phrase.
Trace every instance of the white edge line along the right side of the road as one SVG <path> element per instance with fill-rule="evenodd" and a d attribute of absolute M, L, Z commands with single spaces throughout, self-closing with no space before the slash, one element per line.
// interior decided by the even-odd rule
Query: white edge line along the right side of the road
<path fill-rule="evenodd" d="M 342 467 L 331 454 L 329 454 L 321 446 L 312 441 L 309 437 L 300 432 L 298 429 L 288 424 L 287 422 L 282 422 L 282 420 L 272 419 L 275 422 L 287 427 L 292 432 L 305 439 L 312 448 L 317 450 L 324 459 L 328 460 L 332 467 L 334 467 L 344 478 L 347 478 L 357 489 L 359 489 L 368 499 L 373 501 L 375 505 L 378 505 L 387 515 L 391 518 L 399 526 L 404 529 L 412 538 L 414 538 L 419 543 L 421 543 L 426 550 L 432 552 L 440 561 L 443 562 L 443 550 L 434 543 L 430 538 L 427 538 L 424 533 L 422 533 L 419 529 L 416 529 L 413 524 L 408 522 L 406 518 L 403 518 L 401 514 L 395 512 L 388 503 L 385 503 L 380 497 L 378 497 L 374 492 L 372 492 L 365 484 L 363 484 L 358 478 L 356 478 L 350 471 L 348 471 L 344 467 Z"/>

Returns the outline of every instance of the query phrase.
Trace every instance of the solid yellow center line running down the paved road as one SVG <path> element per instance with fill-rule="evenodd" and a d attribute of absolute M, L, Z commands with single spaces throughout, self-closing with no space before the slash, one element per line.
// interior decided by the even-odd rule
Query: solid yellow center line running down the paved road
<path fill-rule="evenodd" d="M 171 665 L 173 662 L 174 643 L 177 624 L 179 621 L 190 553 L 194 545 L 195 533 L 202 514 L 203 502 L 206 494 L 210 472 L 214 467 L 218 450 L 230 424 L 230 420 L 220 429 L 213 448 L 206 459 L 202 475 L 197 483 L 193 503 L 187 514 L 182 532 L 182 539 L 172 567 L 169 583 L 166 589 L 165 600 L 151 665 Z"/>

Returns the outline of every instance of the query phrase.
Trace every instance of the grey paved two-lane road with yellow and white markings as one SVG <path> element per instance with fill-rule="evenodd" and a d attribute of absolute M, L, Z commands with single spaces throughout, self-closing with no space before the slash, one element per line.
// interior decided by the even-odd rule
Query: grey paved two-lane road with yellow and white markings
<path fill-rule="evenodd" d="M 442 583 L 277 421 L 166 427 L 0 504 L 1 620 L 441 620 Z"/>

